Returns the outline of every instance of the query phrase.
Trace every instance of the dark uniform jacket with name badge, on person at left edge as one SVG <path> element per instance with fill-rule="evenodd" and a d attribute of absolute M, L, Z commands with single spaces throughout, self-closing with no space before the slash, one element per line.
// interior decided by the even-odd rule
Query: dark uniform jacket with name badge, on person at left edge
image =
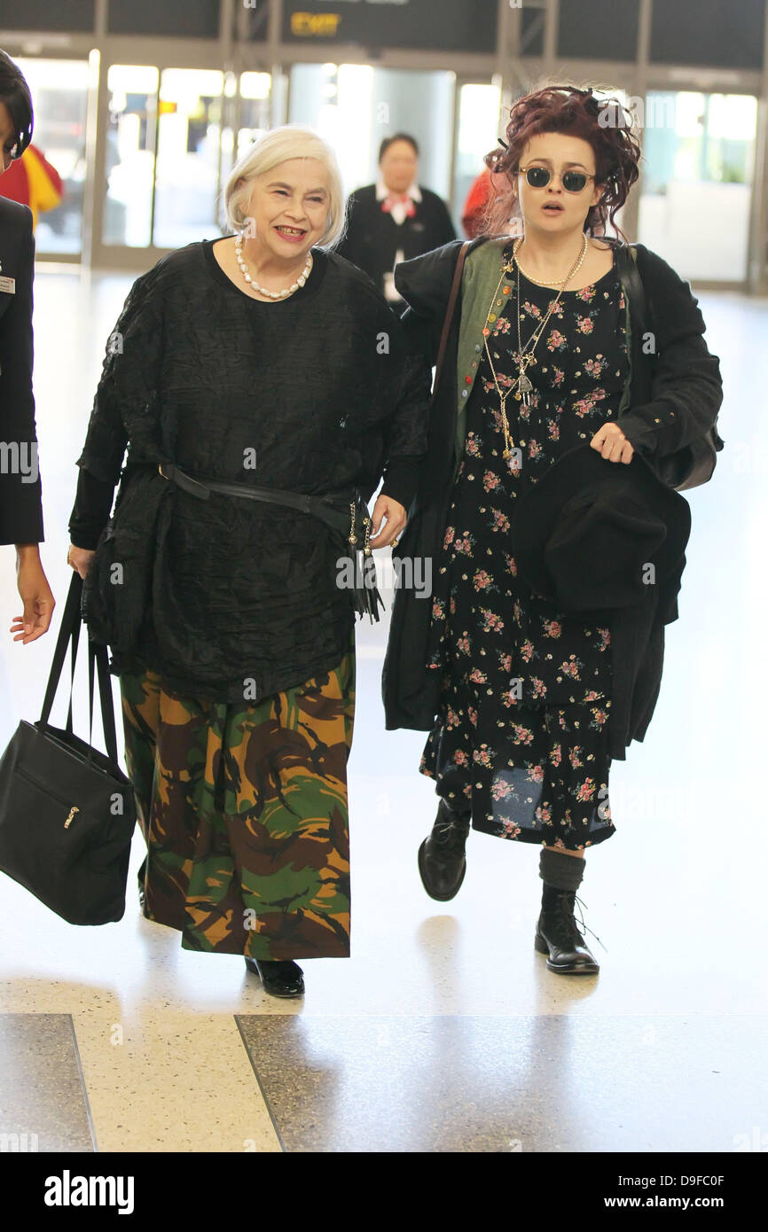
<path fill-rule="evenodd" d="M 0 197 L 0 278 L 14 278 L 15 291 L 0 290 L 0 436 L 37 450 L 32 394 L 32 278 L 35 239 L 32 212 Z M 0 287 L 2 283 L 0 283 Z M 32 444 L 35 442 L 35 448 Z M 21 458 L 22 466 L 25 458 Z M 35 482 L 27 477 L 35 473 Z M 42 485 L 37 468 L 0 474 L 0 543 L 42 543 Z"/>

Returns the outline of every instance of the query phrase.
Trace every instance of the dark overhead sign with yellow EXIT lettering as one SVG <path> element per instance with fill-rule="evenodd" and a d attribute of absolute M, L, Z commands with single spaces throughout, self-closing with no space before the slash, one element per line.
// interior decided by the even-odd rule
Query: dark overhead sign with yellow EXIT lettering
<path fill-rule="evenodd" d="M 496 51 L 497 0 L 284 0 L 285 43 Z"/>

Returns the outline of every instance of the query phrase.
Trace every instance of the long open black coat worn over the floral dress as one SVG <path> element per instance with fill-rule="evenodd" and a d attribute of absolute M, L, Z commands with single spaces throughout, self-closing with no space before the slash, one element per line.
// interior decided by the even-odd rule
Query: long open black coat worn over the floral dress
<path fill-rule="evenodd" d="M 473 241 L 471 251 L 484 240 Z M 412 347 L 435 362 L 459 241 L 397 267 L 394 281 L 411 304 L 403 326 Z M 656 253 L 637 244 L 642 278 L 656 333 L 652 370 L 639 323 L 632 323 L 630 409 L 619 419 L 627 440 L 647 461 L 672 453 L 714 425 L 722 402 L 719 359 L 704 341 L 705 324 L 688 282 Z M 461 294 L 449 335 L 443 378 L 429 416 L 428 461 L 408 526 L 393 551 L 399 558 L 439 558 L 455 472 L 456 350 Z M 482 323 L 481 323 L 482 325 Z M 684 561 L 683 561 L 684 564 Z M 682 574 L 682 569 L 680 569 Z M 631 740 L 642 740 L 661 687 L 664 625 L 677 618 L 680 577 L 663 593 L 648 586 L 646 600 L 610 621 L 613 694 L 610 756 L 624 760 Z M 382 674 L 388 729 L 429 731 L 439 708 L 439 673 L 427 669 L 429 601 L 397 589 Z"/>

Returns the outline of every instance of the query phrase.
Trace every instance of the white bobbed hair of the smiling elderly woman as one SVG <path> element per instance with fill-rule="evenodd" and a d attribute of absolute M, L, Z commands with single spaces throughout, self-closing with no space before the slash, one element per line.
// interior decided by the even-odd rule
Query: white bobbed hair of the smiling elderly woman
<path fill-rule="evenodd" d="M 341 171 L 333 147 L 304 124 L 281 124 L 279 128 L 271 128 L 245 150 L 224 186 L 227 225 L 235 232 L 245 225 L 243 207 L 250 200 L 251 181 L 291 158 L 316 158 L 328 172 L 328 217 L 318 246 L 333 248 L 341 239 L 346 225 L 346 198 Z"/>

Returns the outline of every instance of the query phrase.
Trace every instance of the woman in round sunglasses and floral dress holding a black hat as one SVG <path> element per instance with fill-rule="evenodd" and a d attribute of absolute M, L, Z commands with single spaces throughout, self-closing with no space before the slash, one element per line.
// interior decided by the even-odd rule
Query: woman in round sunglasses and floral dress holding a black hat
<path fill-rule="evenodd" d="M 645 736 L 677 617 L 689 508 L 661 460 L 682 458 L 722 398 L 690 286 L 605 235 L 639 175 L 631 128 L 615 100 L 546 86 L 514 103 L 486 159 L 502 191 L 465 249 L 397 553 L 434 559 L 433 602 L 396 593 L 383 673 L 387 727 L 429 731 L 427 892 L 456 894 L 470 828 L 540 844 L 535 946 L 563 975 L 598 971 L 573 917 L 584 850 L 614 833 L 610 763 Z M 396 271 L 433 363 L 460 249 Z"/>

